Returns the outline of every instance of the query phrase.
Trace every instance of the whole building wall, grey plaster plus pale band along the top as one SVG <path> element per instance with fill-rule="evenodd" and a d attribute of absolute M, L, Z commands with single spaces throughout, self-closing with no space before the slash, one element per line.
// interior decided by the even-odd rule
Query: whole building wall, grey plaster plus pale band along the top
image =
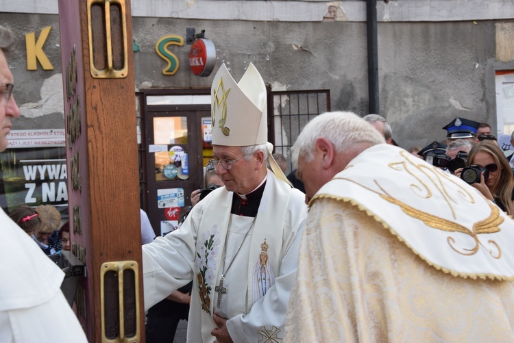
<path fill-rule="evenodd" d="M 14 129 L 62 128 L 58 15 L 49 1 L 35 3 L 7 1 L 10 12 L 0 12 L 21 43 L 10 58 L 23 116 Z M 495 71 L 514 70 L 509 53 L 496 59 L 498 25 L 514 18 L 509 3 L 378 1 L 380 114 L 402 147 L 443 140 L 441 127 L 455 116 L 495 129 Z M 162 74 L 167 62 L 155 50 L 163 36 L 185 40 L 195 27 L 215 42 L 217 67 L 224 62 L 235 79 L 252 62 L 273 90 L 330 89 L 332 110 L 368 113 L 365 1 L 133 0 L 132 7 L 138 89 L 210 87 L 214 73 L 188 71 L 188 45 L 170 48 L 180 61 L 175 75 Z M 47 26 L 43 51 L 53 70 L 27 71 L 25 34 L 37 38 Z"/>

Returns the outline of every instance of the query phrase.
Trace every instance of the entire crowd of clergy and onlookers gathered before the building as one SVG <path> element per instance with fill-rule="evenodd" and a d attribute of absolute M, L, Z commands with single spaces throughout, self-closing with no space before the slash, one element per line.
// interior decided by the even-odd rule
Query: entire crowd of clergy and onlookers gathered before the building
<path fill-rule="evenodd" d="M 11 45 L 0 27 L 0 151 L 19 116 Z M 188 342 L 514 340 L 514 181 L 490 127 L 455 118 L 448 147 L 406 151 L 378 114 L 327 112 L 286 177 L 256 67 L 236 82 L 223 64 L 211 97 L 213 157 L 191 211 L 164 237 L 141 212 L 148 342 L 173 340 L 185 316 Z M 1 259 L 24 256 L 0 267 L 1 342 L 86 342 L 62 271 L 41 258 L 70 244 L 47 206 L 0 211 Z"/>

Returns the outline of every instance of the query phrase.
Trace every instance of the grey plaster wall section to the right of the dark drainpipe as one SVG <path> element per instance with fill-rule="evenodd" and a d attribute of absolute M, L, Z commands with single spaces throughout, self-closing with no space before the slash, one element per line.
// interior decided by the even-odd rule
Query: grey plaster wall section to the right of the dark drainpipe
<path fill-rule="evenodd" d="M 378 31 L 381 114 L 402 146 L 444 140 L 441 128 L 456 116 L 495 126 L 485 96 L 494 23 L 380 23 Z"/>

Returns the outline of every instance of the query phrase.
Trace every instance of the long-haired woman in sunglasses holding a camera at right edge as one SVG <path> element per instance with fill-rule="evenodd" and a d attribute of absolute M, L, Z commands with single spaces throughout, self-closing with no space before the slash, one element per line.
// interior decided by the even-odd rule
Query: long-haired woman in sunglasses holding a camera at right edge
<path fill-rule="evenodd" d="M 469 175 L 474 172 L 474 179 L 469 179 L 469 176 L 463 179 L 487 199 L 494 201 L 504 212 L 513 215 L 514 177 L 509 162 L 498 144 L 491 140 L 476 143 L 469 151 L 466 166 L 472 168 L 458 168 L 455 175 L 461 177 L 463 170 L 466 173 L 466 169 L 470 170 Z"/>

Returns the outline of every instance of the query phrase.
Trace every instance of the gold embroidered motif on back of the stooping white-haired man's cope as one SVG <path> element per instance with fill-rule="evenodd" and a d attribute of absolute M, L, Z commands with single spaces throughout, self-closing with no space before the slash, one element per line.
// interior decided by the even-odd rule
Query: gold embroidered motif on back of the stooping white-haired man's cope
<path fill-rule="evenodd" d="M 458 188 L 460 189 L 460 190 L 458 190 L 458 194 L 461 194 L 461 196 L 463 196 L 463 200 L 469 201 L 470 203 L 475 203 L 475 200 L 474 200 L 472 194 L 470 194 L 463 187 L 461 187 L 460 185 L 455 183 L 452 179 L 450 179 L 449 176 L 445 175 L 445 173 L 443 173 L 441 170 L 437 170 L 437 168 L 435 168 L 435 167 L 429 168 L 426 166 L 422 166 L 420 164 L 416 164 L 415 162 L 413 162 L 413 160 L 411 160 L 411 157 L 407 156 L 407 153 L 404 153 L 403 151 L 400 152 L 400 154 L 402 155 L 402 157 L 404 157 L 406 159 L 406 161 L 393 162 L 393 163 L 389 164 L 389 166 L 391 168 L 393 168 L 394 170 L 398 170 L 398 171 L 404 170 L 404 171 L 406 171 L 406 173 L 413 176 L 415 179 L 417 179 L 417 181 L 419 181 L 419 183 L 421 184 L 421 186 L 423 186 L 423 188 L 421 188 L 420 186 L 418 186 L 416 184 L 411 185 L 411 189 L 413 189 L 413 192 L 415 192 L 415 194 L 417 194 L 418 196 L 421 196 L 424 199 L 428 199 L 428 198 L 430 198 L 430 196 L 432 196 L 432 190 L 430 190 L 430 187 L 424 181 L 422 181 L 419 177 L 414 175 L 414 173 L 412 172 L 412 170 L 410 170 L 408 168 L 408 166 L 413 166 L 414 168 L 417 168 L 421 173 L 426 175 L 426 177 L 428 177 L 428 179 L 430 179 L 430 181 L 432 181 L 435 188 L 437 188 L 437 190 L 439 192 L 441 192 L 445 201 L 450 206 L 450 209 L 452 211 L 454 218 L 456 218 L 456 215 L 455 215 L 455 211 L 452 206 L 452 203 L 456 203 L 456 201 L 452 198 L 452 196 L 450 196 L 450 194 L 448 194 L 448 190 L 445 189 L 443 182 L 442 182 L 443 177 L 445 179 L 447 179 L 448 181 L 454 183 L 456 186 L 458 186 Z M 413 157 L 413 158 L 415 158 L 415 157 Z M 454 251 L 456 251 L 456 253 L 459 253 L 459 254 L 465 255 L 465 256 L 474 255 L 475 253 L 478 252 L 478 249 L 480 249 L 480 246 L 483 246 L 484 249 L 486 249 L 486 251 L 489 253 L 489 255 L 491 255 L 495 259 L 500 259 L 502 257 L 502 249 L 500 249 L 500 246 L 498 245 L 498 243 L 496 243 L 494 240 L 487 240 L 487 244 L 490 244 L 493 248 L 495 248 L 495 249 L 487 249 L 487 247 L 484 245 L 484 243 L 482 241 L 480 241 L 478 238 L 478 235 L 480 235 L 482 233 L 495 233 L 495 232 L 501 231 L 500 225 L 503 223 L 504 218 L 502 218 L 502 216 L 500 216 L 500 210 L 498 209 L 498 207 L 496 207 L 492 203 L 488 202 L 489 208 L 491 209 L 491 214 L 489 214 L 489 216 L 487 218 L 474 223 L 472 231 L 469 231 L 469 229 L 467 229 L 467 227 L 464 227 L 463 225 L 455 223 L 452 220 L 446 220 L 443 218 L 439 218 L 437 216 L 433 216 L 432 214 L 428 214 L 426 212 L 420 211 L 419 209 L 415 209 L 414 207 L 411 207 L 411 206 L 407 205 L 406 203 L 402 203 L 402 201 L 394 198 L 388 192 L 386 192 L 384 190 L 384 188 L 382 188 L 382 186 L 380 186 L 380 184 L 376 180 L 374 180 L 374 182 L 376 183 L 376 185 L 378 186 L 378 188 L 380 188 L 380 190 L 382 192 L 373 190 L 367 186 L 364 186 L 354 180 L 347 179 L 345 177 L 334 177 L 334 179 L 342 179 L 345 181 L 350 181 L 360 187 L 363 187 L 363 188 L 369 190 L 370 192 L 374 192 L 375 194 L 378 194 L 382 199 L 389 201 L 389 203 L 392 203 L 393 205 L 399 206 L 402 209 L 402 211 L 405 214 L 407 214 L 408 216 L 415 218 L 417 220 L 421 220 L 428 227 L 432 227 L 434 229 L 439 229 L 441 231 L 464 233 L 466 235 L 471 236 L 474 239 L 476 244 L 471 249 L 467 249 L 467 248 L 463 248 L 463 247 L 458 248 L 456 246 L 456 240 L 452 236 L 448 236 L 448 238 L 447 238 L 448 245 L 450 245 L 450 247 Z M 423 191 L 423 190 L 426 191 L 426 195 L 419 194 L 419 192 Z"/>

